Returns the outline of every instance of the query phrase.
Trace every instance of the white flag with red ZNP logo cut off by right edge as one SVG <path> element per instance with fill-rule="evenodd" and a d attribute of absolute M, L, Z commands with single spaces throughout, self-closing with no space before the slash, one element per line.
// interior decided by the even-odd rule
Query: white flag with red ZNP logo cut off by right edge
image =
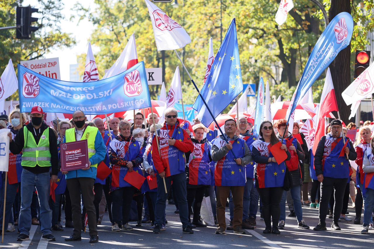
<path fill-rule="evenodd" d="M 347 105 L 364 99 L 374 93 L 374 63 L 362 72 L 356 80 L 341 93 Z"/>

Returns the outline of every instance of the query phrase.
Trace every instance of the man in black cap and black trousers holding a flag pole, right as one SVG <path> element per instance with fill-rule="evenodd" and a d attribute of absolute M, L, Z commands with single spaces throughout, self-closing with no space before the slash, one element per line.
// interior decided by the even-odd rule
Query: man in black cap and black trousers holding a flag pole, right
<path fill-rule="evenodd" d="M 315 231 L 327 230 L 326 215 L 331 193 L 334 192 L 334 211 L 331 228 L 341 230 L 338 224 L 341 210 L 343 209 L 343 196 L 349 178 L 349 160 L 354 161 L 357 157 L 352 142 L 342 134 L 341 121 L 332 120 L 331 132 L 323 136 L 318 143 L 314 167 L 316 176 L 321 182 L 321 199 L 319 201 L 319 223 L 313 228 Z M 348 159 L 347 159 L 348 157 Z"/>

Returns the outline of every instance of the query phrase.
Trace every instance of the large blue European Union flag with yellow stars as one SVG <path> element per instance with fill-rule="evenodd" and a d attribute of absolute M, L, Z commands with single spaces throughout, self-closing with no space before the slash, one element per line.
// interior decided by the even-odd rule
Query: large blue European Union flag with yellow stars
<path fill-rule="evenodd" d="M 234 18 L 200 93 L 215 118 L 242 91 L 242 72 Z M 197 117 L 203 125 L 208 127 L 213 122 L 214 118 L 209 114 L 200 95 L 197 96 L 192 108 L 198 112 Z"/>

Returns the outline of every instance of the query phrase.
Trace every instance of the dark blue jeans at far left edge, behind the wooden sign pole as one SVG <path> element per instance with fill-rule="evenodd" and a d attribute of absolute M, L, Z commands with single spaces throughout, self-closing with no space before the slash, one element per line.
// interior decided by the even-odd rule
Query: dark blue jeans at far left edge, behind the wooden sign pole
<path fill-rule="evenodd" d="M 5 220 L 7 222 L 5 222 L 5 224 L 7 225 L 7 223 L 14 224 L 12 207 L 13 207 L 14 200 L 16 198 L 19 183 L 9 184 L 9 181 L 7 181 L 6 185 L 7 186 L 6 186 Z M 4 195 L 5 195 L 4 191 L 5 191 L 5 175 L 3 178 L 3 189 L 1 191 L 2 197 L 1 197 L 1 206 L 0 206 L 0 209 L 1 209 L 0 210 L 0 224 L 3 224 Z"/>

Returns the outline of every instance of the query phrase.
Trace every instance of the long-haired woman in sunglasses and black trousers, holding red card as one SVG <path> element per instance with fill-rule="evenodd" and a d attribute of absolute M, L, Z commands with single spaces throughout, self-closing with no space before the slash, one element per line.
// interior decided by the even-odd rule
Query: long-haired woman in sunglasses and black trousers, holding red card
<path fill-rule="evenodd" d="M 256 163 L 256 187 L 262 201 L 262 215 L 266 225 L 263 233 L 280 234 L 278 222 L 281 213 L 279 203 L 283 194 L 284 177 L 286 173 L 285 162 L 278 164 L 270 148 L 279 139 L 276 137 L 270 121 L 260 125 L 260 137 L 252 143 L 252 158 Z M 291 158 L 287 150 L 286 140 L 283 140 L 281 149 L 287 153 L 286 160 Z M 271 222 L 273 221 L 273 227 Z"/>

